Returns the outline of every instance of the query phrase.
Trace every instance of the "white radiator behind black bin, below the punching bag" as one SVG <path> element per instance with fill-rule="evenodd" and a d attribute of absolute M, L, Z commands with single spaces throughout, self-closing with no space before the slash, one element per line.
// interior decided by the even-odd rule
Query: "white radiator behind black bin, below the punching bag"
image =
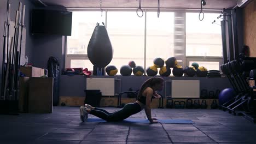
<path fill-rule="evenodd" d="M 102 95 L 115 95 L 115 79 L 114 78 L 87 78 L 86 89 L 100 89 Z"/>

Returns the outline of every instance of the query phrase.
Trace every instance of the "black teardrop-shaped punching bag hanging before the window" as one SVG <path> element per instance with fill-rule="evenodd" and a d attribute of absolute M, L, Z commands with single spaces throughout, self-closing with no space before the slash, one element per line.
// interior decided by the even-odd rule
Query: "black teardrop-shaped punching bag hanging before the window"
<path fill-rule="evenodd" d="M 89 60 L 98 68 L 106 67 L 113 58 L 108 32 L 103 22 L 102 24 L 103 26 L 100 26 L 99 23 L 96 24 L 87 49 Z"/>

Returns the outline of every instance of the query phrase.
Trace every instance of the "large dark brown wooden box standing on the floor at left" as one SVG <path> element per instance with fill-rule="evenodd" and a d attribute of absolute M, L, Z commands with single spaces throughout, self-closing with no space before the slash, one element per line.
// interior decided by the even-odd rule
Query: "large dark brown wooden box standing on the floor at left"
<path fill-rule="evenodd" d="M 53 112 L 53 77 L 30 77 L 28 112 Z"/>

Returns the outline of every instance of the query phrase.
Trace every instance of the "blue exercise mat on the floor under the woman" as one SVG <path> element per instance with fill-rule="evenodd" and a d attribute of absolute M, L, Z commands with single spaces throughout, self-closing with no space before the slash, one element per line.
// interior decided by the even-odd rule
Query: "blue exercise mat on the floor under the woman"
<path fill-rule="evenodd" d="M 107 122 L 101 118 L 88 118 L 87 122 Z M 149 123 L 148 119 L 143 118 L 126 118 L 123 121 L 124 123 Z M 188 119 L 158 119 L 160 123 L 194 123 Z"/>

